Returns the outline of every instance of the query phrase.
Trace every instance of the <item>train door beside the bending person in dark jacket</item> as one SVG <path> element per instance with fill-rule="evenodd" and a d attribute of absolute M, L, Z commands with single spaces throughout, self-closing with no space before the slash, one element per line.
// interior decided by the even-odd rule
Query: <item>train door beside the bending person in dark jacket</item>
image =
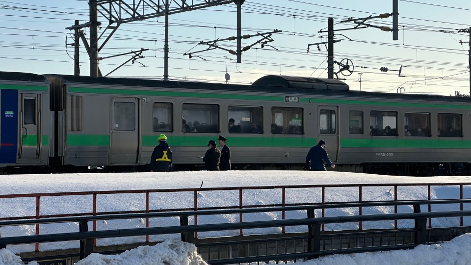
<path fill-rule="evenodd" d="M 317 113 L 317 141 L 325 141 L 330 160 L 336 162 L 339 153 L 339 107 L 319 106 Z"/>

